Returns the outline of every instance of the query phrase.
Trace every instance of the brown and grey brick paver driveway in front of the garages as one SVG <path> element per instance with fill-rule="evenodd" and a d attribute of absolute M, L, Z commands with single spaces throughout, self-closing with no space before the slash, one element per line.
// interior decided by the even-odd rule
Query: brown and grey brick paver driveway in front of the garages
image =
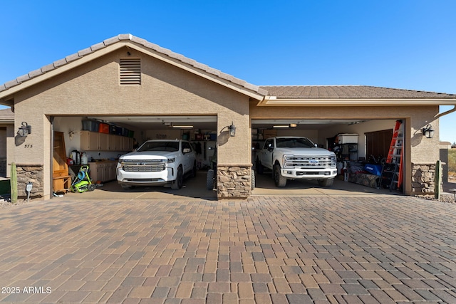
<path fill-rule="evenodd" d="M 62 198 L 0 225 L 5 302 L 456 303 L 456 204 Z"/>

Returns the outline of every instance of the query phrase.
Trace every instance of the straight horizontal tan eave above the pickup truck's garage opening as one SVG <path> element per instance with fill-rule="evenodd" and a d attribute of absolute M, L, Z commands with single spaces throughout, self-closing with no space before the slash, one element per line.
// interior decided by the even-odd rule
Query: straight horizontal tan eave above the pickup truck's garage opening
<path fill-rule="evenodd" d="M 269 107 L 359 107 L 359 106 L 413 106 L 413 105 L 456 105 L 456 99 L 435 98 L 276 98 L 266 96 L 258 106 Z"/>

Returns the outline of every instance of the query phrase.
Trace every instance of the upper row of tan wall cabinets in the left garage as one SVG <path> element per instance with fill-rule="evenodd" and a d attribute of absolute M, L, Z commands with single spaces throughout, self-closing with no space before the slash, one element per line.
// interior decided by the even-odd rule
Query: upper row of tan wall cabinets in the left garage
<path fill-rule="evenodd" d="M 82 151 L 132 151 L 133 138 L 120 135 L 81 131 Z"/>

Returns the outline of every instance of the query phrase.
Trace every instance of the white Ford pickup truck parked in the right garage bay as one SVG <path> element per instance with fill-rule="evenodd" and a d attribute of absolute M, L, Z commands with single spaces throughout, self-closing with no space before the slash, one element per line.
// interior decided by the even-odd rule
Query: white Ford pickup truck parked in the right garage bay
<path fill-rule="evenodd" d="M 276 187 L 285 187 L 287 179 L 316 179 L 320 186 L 331 187 L 337 175 L 336 154 L 306 137 L 271 137 L 257 158 L 257 172 L 265 168 L 272 170 Z"/>

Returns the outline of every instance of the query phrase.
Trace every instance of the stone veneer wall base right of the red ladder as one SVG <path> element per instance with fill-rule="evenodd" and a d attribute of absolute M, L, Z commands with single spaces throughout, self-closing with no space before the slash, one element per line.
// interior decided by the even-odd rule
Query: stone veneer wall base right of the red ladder
<path fill-rule="evenodd" d="M 440 172 L 442 172 L 442 169 L 440 169 Z M 440 190 L 442 191 L 442 185 L 440 185 Z M 412 194 L 427 195 L 434 194 L 434 191 L 435 164 L 423 162 L 412 163 Z"/>

